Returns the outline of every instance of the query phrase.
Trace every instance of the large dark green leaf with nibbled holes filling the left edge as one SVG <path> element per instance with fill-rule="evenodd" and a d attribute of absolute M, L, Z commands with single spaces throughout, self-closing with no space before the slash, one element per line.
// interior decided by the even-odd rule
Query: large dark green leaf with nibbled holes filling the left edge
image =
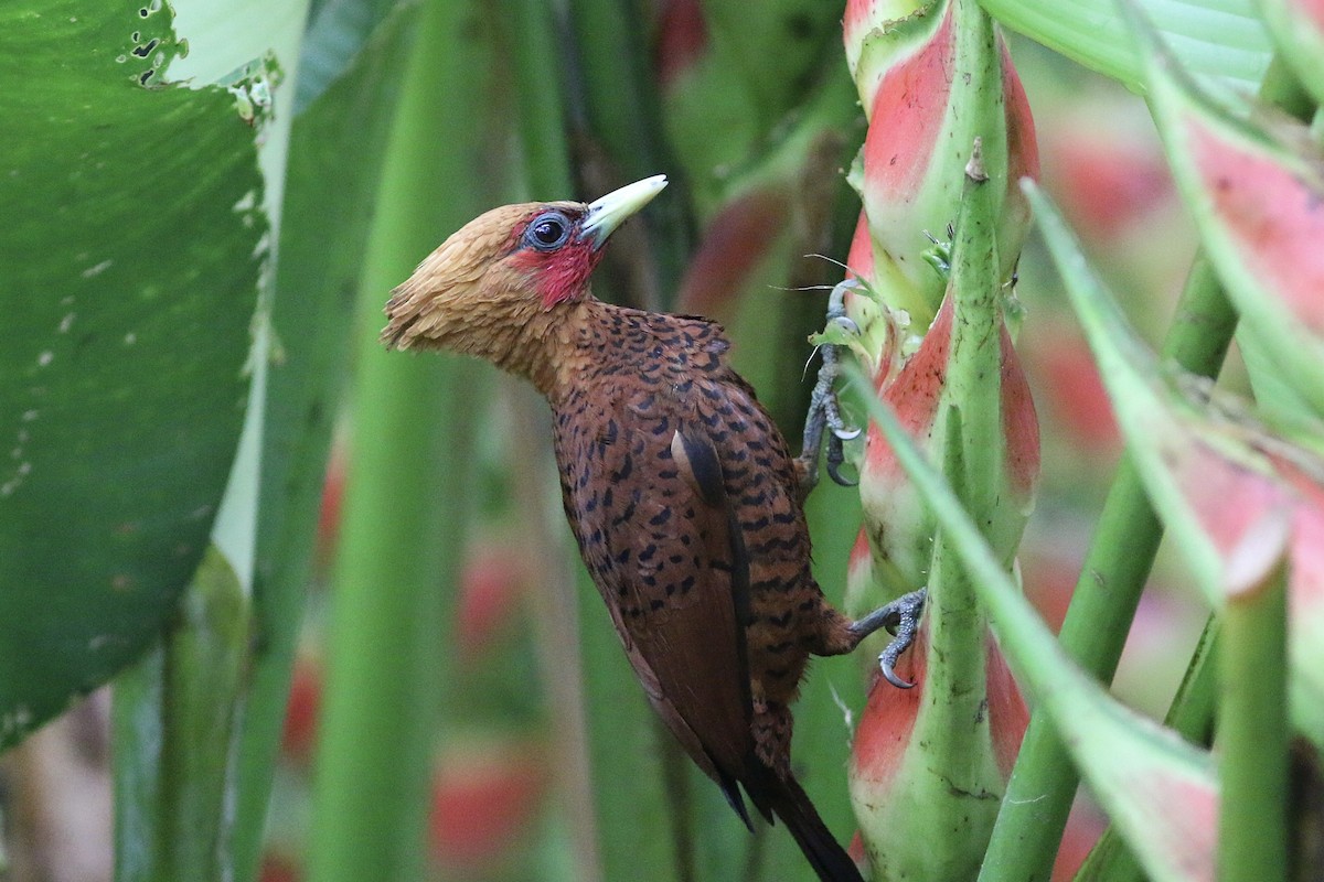
<path fill-rule="evenodd" d="M 0 746 L 160 632 L 234 454 L 263 182 L 175 52 L 164 5 L 0 12 Z"/>

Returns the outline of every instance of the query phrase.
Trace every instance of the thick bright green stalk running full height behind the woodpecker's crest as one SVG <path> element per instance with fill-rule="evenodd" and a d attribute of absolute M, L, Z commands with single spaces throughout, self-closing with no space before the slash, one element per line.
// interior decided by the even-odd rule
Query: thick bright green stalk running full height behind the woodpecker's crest
<path fill-rule="evenodd" d="M 477 209 L 483 46 L 471 4 L 418 19 L 363 274 L 359 382 L 335 569 L 308 878 L 421 879 L 445 606 L 459 553 L 462 370 L 377 342 L 391 287 Z M 445 48 L 445 50 L 438 50 Z M 445 194 L 440 198 L 438 194 Z"/>

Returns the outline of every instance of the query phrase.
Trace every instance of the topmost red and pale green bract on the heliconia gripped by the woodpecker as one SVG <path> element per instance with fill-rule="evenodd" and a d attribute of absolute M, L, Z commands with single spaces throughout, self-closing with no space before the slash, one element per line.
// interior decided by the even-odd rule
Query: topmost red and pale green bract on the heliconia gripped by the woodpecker
<path fill-rule="evenodd" d="M 997 189 L 1001 278 L 1010 275 L 1029 229 L 1018 181 L 1038 176 L 1039 156 L 1030 106 L 1001 36 L 989 36 L 993 56 L 972 50 L 986 24 L 982 13 L 932 3 L 904 21 L 887 20 L 912 9 L 898 7 L 847 7 L 846 56 L 870 122 L 851 182 L 865 204 L 876 262 L 866 280 L 887 305 L 924 325 L 944 292 L 944 280 L 924 261 L 928 235 L 941 237 L 956 220 L 974 138 L 984 141 L 985 172 Z"/>

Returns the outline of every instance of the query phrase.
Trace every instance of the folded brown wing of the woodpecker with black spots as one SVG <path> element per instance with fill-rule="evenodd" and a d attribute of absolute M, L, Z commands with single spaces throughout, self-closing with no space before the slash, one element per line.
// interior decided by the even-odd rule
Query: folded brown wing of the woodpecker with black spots
<path fill-rule="evenodd" d="M 665 387 L 594 390 L 559 421 L 565 510 L 654 709 L 748 824 L 749 561 L 722 460 Z"/>

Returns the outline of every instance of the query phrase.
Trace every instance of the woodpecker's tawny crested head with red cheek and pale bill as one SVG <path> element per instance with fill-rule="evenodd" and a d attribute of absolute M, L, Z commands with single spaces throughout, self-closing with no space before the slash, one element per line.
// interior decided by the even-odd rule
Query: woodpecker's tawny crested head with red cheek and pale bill
<path fill-rule="evenodd" d="M 612 233 L 666 186 L 654 175 L 596 202 L 526 202 L 474 218 L 429 254 L 387 303 L 388 346 L 448 348 L 496 361 L 531 325 L 583 300 Z"/>

